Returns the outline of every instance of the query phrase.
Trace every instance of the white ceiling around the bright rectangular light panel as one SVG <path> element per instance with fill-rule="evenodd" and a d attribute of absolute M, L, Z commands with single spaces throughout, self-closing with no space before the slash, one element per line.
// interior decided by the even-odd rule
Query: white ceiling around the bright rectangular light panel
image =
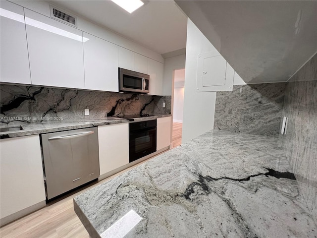
<path fill-rule="evenodd" d="M 159 54 L 186 47 L 187 17 L 172 0 L 150 0 L 126 12 L 110 0 L 51 0 Z"/>

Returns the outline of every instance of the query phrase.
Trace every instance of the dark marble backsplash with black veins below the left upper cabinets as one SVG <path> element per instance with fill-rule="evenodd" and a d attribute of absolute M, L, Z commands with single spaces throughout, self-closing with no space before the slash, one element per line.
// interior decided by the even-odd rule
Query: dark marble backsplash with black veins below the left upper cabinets
<path fill-rule="evenodd" d="M 162 107 L 162 103 L 166 107 Z M 99 92 L 0 84 L 0 122 L 101 119 L 106 116 L 171 113 L 171 96 Z M 90 115 L 84 116 L 88 108 Z"/>

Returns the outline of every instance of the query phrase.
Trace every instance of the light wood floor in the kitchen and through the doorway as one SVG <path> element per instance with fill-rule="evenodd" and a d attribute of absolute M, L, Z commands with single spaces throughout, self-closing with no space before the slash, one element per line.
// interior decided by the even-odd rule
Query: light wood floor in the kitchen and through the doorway
<path fill-rule="evenodd" d="M 172 141 L 174 147 L 181 144 L 182 123 L 173 123 Z M 150 158 L 151 159 L 151 158 Z M 149 159 L 149 160 L 150 160 Z M 146 160 L 147 161 L 147 160 Z M 144 161 L 145 162 L 145 161 Z M 142 163 L 144 163 L 142 162 Z M 139 165 L 139 164 L 138 164 Z M 135 165 L 132 168 L 138 166 Z M 121 171 L 107 179 L 90 184 L 80 191 L 59 198 L 46 207 L 11 222 L 0 228 L 1 238 L 89 238 L 89 235 L 74 212 L 73 198 L 106 180 L 132 168 Z"/>

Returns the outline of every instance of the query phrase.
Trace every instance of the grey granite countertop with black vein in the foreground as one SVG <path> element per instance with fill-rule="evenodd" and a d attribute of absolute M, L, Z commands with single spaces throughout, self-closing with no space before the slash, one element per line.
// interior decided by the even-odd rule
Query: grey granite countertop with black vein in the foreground
<path fill-rule="evenodd" d="M 122 237 L 129 220 L 112 225 L 131 210 L 142 219 L 126 238 L 317 237 L 277 138 L 222 130 L 76 196 L 74 209 L 91 237 Z"/>

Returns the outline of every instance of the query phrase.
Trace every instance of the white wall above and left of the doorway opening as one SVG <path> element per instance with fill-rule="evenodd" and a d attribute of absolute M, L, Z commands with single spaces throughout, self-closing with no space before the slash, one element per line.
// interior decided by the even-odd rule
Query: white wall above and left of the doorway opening
<path fill-rule="evenodd" d="M 172 95 L 173 70 L 185 68 L 186 55 L 164 59 L 163 95 Z"/>

